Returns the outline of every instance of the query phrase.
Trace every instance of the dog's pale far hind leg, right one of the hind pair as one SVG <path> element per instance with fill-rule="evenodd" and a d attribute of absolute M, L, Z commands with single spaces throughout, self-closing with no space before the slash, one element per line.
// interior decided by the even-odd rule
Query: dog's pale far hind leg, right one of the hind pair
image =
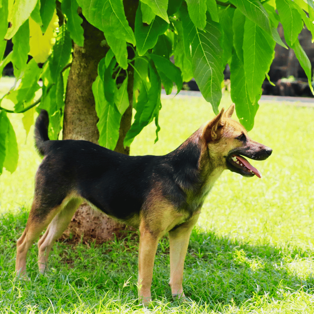
<path fill-rule="evenodd" d="M 39 271 L 45 273 L 48 256 L 54 242 L 62 236 L 63 231 L 68 227 L 73 214 L 82 203 L 80 198 L 72 198 L 51 220 L 46 232 L 38 241 L 38 267 Z"/>

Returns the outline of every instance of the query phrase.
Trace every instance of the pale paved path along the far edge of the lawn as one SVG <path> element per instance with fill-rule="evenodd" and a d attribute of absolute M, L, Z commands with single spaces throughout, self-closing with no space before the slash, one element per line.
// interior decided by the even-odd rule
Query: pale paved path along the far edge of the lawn
<path fill-rule="evenodd" d="M 170 95 L 166 95 L 165 90 L 161 90 L 161 98 L 169 99 L 173 98 L 176 95 L 176 92 L 172 92 Z M 203 97 L 201 92 L 193 90 L 181 90 L 176 98 L 184 97 Z M 301 106 L 301 107 L 313 107 L 314 108 L 314 98 L 309 97 L 290 97 L 290 96 L 271 96 L 271 95 L 262 95 L 259 103 L 263 102 L 284 102 L 288 105 Z"/>

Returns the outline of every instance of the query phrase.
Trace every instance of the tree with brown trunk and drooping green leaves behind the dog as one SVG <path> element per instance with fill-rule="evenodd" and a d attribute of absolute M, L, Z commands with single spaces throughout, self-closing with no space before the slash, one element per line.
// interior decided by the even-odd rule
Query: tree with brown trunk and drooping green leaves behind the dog
<path fill-rule="evenodd" d="M 298 40 L 304 25 L 314 40 L 312 0 L 0 0 L 0 75 L 12 62 L 21 79 L 0 100 L 1 173 L 3 167 L 15 171 L 18 161 L 7 112 L 23 113 L 28 133 L 34 110 L 44 108 L 50 139 L 63 129 L 64 139 L 128 154 L 153 120 L 158 140 L 161 84 L 167 94 L 173 82 L 180 92 L 182 81 L 194 77 L 218 113 L 227 63 L 236 114 L 251 130 L 275 43 L 288 48 L 277 32 L 279 21 L 313 92 L 311 63 Z M 10 38 L 13 51 L 3 58 Z M 14 110 L 2 107 L 3 99 L 13 101 Z"/>

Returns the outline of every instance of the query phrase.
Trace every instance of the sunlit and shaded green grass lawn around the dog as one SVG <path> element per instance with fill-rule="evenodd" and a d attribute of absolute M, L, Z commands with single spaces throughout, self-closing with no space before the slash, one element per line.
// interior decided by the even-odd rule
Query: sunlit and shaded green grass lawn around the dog
<path fill-rule="evenodd" d="M 225 94 L 221 106 L 229 106 Z M 160 140 L 154 125 L 135 139 L 131 154 L 165 154 L 214 116 L 198 98 L 162 100 Z M 153 303 L 137 305 L 138 236 L 97 245 L 60 241 L 45 276 L 37 245 L 27 261 L 30 281 L 14 279 L 15 242 L 23 231 L 41 159 L 33 129 L 10 115 L 19 142 L 19 166 L 0 177 L 1 313 L 314 313 L 314 109 L 262 103 L 249 135 L 273 148 L 252 161 L 263 174 L 244 178 L 225 171 L 204 203 L 192 232 L 183 286 L 190 302 L 172 300 L 169 243 L 160 240 Z"/>

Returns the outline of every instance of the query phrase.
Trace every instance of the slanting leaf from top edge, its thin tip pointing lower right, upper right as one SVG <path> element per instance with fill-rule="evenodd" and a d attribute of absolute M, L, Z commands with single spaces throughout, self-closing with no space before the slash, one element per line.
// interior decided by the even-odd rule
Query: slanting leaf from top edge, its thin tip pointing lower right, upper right
<path fill-rule="evenodd" d="M 273 37 L 280 46 L 287 46 L 280 39 L 278 31 L 271 25 L 269 15 L 263 5 L 258 0 L 230 0 L 248 19 L 256 23 L 268 35 Z"/>

